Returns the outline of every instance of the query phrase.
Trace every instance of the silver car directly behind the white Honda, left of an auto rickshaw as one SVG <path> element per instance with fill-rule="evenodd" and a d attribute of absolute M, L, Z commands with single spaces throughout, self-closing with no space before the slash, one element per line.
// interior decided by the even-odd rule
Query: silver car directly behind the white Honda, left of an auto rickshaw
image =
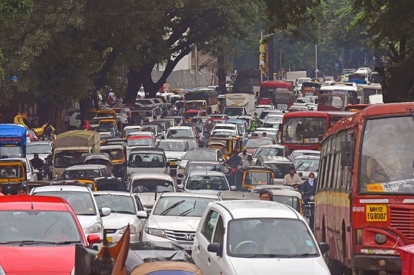
<path fill-rule="evenodd" d="M 178 185 L 184 192 L 217 194 L 220 191 L 235 190 L 235 186 L 228 184 L 223 172 L 193 171 L 186 176 L 183 184 Z"/>

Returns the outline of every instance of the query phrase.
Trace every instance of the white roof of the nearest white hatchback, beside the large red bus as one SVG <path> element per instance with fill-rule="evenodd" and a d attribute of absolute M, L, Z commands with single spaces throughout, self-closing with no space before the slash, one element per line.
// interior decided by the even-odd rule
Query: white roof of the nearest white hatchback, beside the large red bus
<path fill-rule="evenodd" d="M 217 201 L 233 219 L 237 218 L 293 218 L 301 219 L 292 207 L 275 201 L 239 200 Z"/>

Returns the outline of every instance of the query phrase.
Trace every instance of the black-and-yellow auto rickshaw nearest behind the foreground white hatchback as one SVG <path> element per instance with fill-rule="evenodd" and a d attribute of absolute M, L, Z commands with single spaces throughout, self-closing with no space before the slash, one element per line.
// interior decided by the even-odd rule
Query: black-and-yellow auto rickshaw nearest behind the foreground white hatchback
<path fill-rule="evenodd" d="M 239 167 L 235 174 L 236 190 L 252 190 L 255 185 L 273 185 L 273 170 L 263 166 L 246 166 Z"/>

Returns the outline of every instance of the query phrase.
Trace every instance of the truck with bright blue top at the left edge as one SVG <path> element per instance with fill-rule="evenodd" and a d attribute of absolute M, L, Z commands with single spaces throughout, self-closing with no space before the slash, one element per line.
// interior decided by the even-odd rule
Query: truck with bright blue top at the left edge
<path fill-rule="evenodd" d="M 18 156 L 26 158 L 26 128 L 20 124 L 0 124 L 0 156 Z"/>

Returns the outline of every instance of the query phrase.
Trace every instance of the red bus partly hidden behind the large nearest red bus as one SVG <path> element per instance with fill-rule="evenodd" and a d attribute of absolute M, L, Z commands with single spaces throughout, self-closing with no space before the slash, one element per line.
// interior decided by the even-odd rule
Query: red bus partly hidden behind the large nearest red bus
<path fill-rule="evenodd" d="M 284 114 L 279 139 L 293 150 L 319 150 L 324 134 L 333 124 L 354 112 L 299 111 Z"/>

